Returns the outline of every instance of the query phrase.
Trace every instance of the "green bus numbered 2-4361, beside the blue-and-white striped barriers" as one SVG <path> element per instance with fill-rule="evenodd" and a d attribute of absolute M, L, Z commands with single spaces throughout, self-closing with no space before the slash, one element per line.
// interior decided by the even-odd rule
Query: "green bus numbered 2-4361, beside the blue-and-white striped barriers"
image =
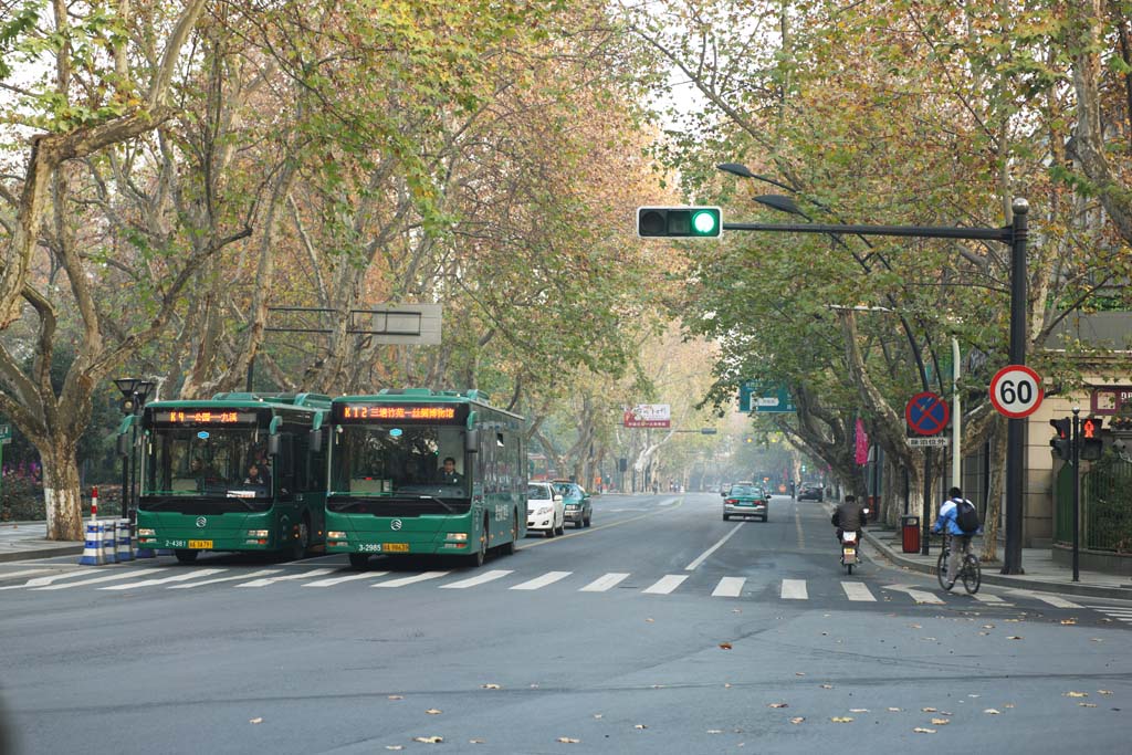
<path fill-rule="evenodd" d="M 309 393 L 146 405 L 137 418 L 138 548 L 190 563 L 201 551 L 302 558 L 323 547 L 329 409 L 329 396 Z"/>

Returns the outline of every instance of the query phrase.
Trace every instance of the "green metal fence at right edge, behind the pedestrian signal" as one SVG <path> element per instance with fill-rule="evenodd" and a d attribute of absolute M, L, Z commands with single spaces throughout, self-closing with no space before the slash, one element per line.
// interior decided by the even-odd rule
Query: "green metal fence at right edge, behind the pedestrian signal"
<path fill-rule="evenodd" d="M 1073 470 L 1054 486 L 1054 540 L 1073 542 Z M 1107 455 L 1081 475 L 1081 546 L 1132 552 L 1132 463 Z"/>

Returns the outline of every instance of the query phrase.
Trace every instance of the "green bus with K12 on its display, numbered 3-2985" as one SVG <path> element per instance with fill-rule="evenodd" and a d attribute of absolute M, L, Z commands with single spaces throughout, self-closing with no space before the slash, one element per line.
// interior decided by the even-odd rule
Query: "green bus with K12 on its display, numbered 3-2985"
<path fill-rule="evenodd" d="M 526 535 L 523 418 L 479 391 L 385 389 L 331 411 L 326 551 L 458 556 L 480 566 Z"/>

